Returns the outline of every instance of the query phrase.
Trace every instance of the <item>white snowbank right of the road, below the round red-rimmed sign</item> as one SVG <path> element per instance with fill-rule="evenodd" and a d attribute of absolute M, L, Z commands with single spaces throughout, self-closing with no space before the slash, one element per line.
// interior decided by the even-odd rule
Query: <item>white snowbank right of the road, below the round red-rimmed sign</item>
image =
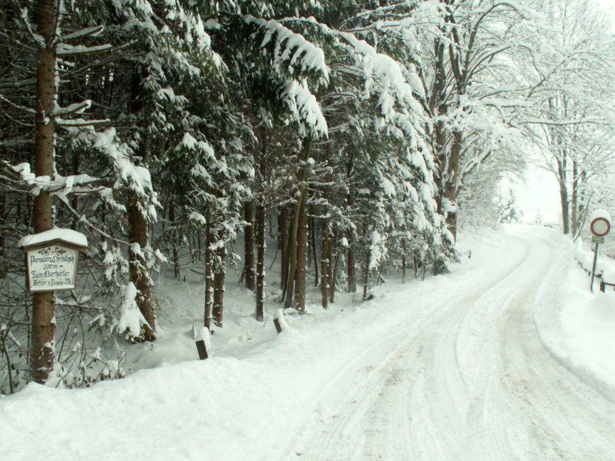
<path fill-rule="evenodd" d="M 593 253 L 581 242 L 574 245 L 560 237 L 560 248 L 568 254 L 565 276 L 557 281 L 554 297 L 535 307 L 539 336 L 563 366 L 615 402 L 615 292 L 607 287 L 606 293 L 600 293 L 598 280 L 594 293 L 590 291 L 584 269 L 591 270 Z M 608 277 L 613 263 L 599 257 L 597 273 Z"/>

